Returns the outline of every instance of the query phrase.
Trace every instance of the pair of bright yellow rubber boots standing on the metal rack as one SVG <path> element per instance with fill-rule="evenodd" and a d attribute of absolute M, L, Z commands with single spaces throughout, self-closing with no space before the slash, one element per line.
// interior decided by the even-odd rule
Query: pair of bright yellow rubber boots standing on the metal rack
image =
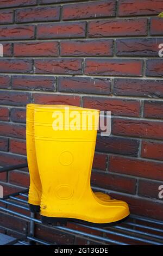
<path fill-rule="evenodd" d="M 106 224 L 129 215 L 126 202 L 90 186 L 99 111 L 66 105 L 27 105 L 29 205 L 43 223 Z"/>

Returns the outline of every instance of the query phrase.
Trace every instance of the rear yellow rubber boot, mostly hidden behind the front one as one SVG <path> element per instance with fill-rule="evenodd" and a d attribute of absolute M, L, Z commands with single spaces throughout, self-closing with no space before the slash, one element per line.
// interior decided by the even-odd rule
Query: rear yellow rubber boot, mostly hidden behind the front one
<path fill-rule="evenodd" d="M 30 187 L 28 195 L 28 203 L 30 211 L 40 212 L 40 201 L 42 196 L 42 186 L 40 181 L 40 174 L 37 167 L 35 141 L 34 141 L 34 108 L 46 107 L 47 105 L 40 105 L 29 103 L 27 105 L 27 129 L 26 129 L 26 144 L 27 144 L 27 161 L 30 174 Z M 54 106 L 54 105 L 52 105 Z M 55 105 L 59 106 L 59 105 Z M 71 108 L 71 106 L 70 106 Z M 101 200 L 110 200 L 110 196 L 101 192 L 95 192 L 96 196 Z"/>

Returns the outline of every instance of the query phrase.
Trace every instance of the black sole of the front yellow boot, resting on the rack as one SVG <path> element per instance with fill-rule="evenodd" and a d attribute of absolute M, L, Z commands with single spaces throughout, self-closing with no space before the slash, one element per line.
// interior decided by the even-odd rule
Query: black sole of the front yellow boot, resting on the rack
<path fill-rule="evenodd" d="M 67 222 L 76 222 L 76 223 L 80 223 L 80 224 L 91 225 L 92 227 L 108 227 L 110 225 L 115 225 L 115 224 L 124 222 L 127 220 L 128 217 L 129 217 L 129 215 L 127 217 L 124 217 L 122 220 L 115 221 L 115 222 L 93 223 L 93 222 L 89 222 L 89 221 L 79 220 L 77 218 L 57 218 L 57 217 L 41 216 L 41 222 L 42 222 L 42 224 L 45 224 L 45 225 L 55 225 L 55 226 L 57 226 L 57 225 L 66 226 Z"/>

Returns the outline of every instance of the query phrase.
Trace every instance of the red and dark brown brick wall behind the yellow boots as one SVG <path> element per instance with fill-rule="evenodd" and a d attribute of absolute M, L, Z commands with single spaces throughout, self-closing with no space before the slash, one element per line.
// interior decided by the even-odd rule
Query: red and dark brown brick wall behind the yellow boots
<path fill-rule="evenodd" d="M 92 184 L 134 214 L 161 220 L 163 1 L 3 0 L 0 8 L 1 166 L 26 160 L 27 103 L 111 111 L 112 134 L 97 138 Z M 26 170 L 0 178 L 11 190 L 29 185 Z"/>

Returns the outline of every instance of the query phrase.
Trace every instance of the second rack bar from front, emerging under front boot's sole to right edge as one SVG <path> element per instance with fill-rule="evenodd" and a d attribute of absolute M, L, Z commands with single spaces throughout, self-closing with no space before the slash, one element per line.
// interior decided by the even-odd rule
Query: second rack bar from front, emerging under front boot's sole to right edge
<path fill-rule="evenodd" d="M 158 243 L 158 242 L 154 242 L 154 241 L 151 241 L 151 240 L 146 240 L 146 239 L 143 239 L 143 238 L 140 238 L 140 237 L 136 237 L 136 236 L 131 236 L 131 235 L 117 233 L 116 231 L 111 231 L 111 230 L 108 230 L 108 229 L 95 228 L 95 227 L 91 227 L 91 226 L 88 226 L 88 225 L 83 225 L 83 224 L 80 224 L 80 223 L 78 223 L 78 225 L 80 225 L 82 227 L 90 228 L 90 229 L 93 229 L 93 230 L 102 231 L 102 232 L 107 233 L 107 234 L 127 237 L 127 238 L 129 238 L 131 240 L 135 240 L 135 241 L 152 243 L 153 245 L 162 245 L 163 244 L 163 243 Z"/>

